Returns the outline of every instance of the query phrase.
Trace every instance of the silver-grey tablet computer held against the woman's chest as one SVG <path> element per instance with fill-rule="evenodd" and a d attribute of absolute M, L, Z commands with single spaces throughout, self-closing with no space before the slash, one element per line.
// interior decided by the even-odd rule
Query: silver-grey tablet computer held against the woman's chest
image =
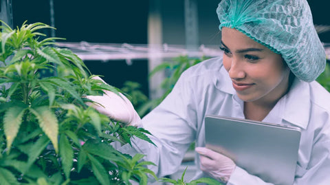
<path fill-rule="evenodd" d="M 281 124 L 206 116 L 206 148 L 223 153 L 265 182 L 293 184 L 300 129 Z"/>

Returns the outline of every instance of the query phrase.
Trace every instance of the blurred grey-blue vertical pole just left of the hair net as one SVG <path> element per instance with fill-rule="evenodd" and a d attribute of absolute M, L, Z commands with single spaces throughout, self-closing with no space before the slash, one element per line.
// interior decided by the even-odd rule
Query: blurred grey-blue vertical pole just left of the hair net
<path fill-rule="evenodd" d="M 186 26 L 186 47 L 189 52 L 196 52 L 199 47 L 197 0 L 184 1 L 184 20 Z"/>

